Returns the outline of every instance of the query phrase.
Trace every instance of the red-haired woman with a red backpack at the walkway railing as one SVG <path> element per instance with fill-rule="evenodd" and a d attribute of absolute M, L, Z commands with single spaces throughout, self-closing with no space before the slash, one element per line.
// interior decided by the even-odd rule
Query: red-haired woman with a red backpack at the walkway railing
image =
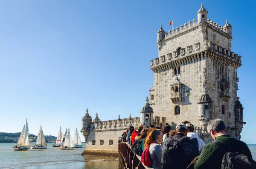
<path fill-rule="evenodd" d="M 161 129 L 152 129 L 145 140 L 145 149 L 141 155 L 143 164 L 154 169 L 162 169 L 161 154 L 162 148 L 159 143 L 163 140 Z"/>

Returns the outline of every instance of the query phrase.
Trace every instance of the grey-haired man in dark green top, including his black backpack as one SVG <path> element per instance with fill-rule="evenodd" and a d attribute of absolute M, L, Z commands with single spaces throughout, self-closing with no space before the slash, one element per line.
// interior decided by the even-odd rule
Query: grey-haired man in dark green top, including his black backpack
<path fill-rule="evenodd" d="M 194 169 L 256 169 L 246 143 L 227 135 L 223 120 L 210 120 L 207 131 L 214 141 L 204 146 Z"/>

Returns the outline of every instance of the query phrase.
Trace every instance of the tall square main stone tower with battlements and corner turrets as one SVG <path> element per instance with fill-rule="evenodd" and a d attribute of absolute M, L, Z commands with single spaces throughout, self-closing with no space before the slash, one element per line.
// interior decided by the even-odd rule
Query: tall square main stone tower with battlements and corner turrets
<path fill-rule="evenodd" d="M 154 117 L 166 117 L 173 127 L 188 120 L 206 142 L 207 123 L 221 118 L 227 133 L 239 139 L 245 124 L 237 97 L 241 56 L 231 52 L 232 26 L 209 20 L 203 4 L 197 17 L 169 33 L 161 25 L 157 32 L 158 57 L 150 60 Z"/>

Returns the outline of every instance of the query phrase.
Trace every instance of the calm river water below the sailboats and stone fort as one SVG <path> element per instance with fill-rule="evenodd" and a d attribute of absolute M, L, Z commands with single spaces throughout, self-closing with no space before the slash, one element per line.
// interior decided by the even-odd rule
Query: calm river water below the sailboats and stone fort
<path fill-rule="evenodd" d="M 85 148 L 61 150 L 47 143 L 44 150 L 12 151 L 13 145 L 0 143 L 0 169 L 118 169 L 118 161 L 81 156 Z"/>

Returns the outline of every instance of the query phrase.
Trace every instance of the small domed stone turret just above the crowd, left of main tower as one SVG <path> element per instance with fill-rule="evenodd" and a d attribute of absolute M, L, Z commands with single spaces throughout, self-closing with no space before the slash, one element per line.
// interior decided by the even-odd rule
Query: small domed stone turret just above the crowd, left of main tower
<path fill-rule="evenodd" d="M 153 124 L 153 113 L 154 113 L 148 101 L 149 101 L 148 97 L 146 97 L 146 103 L 140 111 L 140 123 L 141 125 L 147 126 L 147 127 Z"/>

